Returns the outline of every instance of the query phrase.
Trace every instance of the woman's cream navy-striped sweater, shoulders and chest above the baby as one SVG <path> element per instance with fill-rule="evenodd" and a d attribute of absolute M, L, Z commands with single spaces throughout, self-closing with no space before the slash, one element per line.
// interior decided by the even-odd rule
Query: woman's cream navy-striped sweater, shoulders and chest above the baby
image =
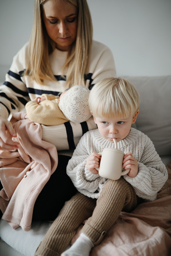
<path fill-rule="evenodd" d="M 65 89 L 66 78 L 61 69 L 66 61 L 67 51 L 55 49 L 49 56 L 52 73 L 57 81 L 47 81 L 45 85 L 37 84 L 30 76 L 23 76 L 28 67 L 28 43 L 14 56 L 6 81 L 0 85 L 0 115 L 8 118 L 14 112 L 22 111 L 29 100 L 42 94 L 58 95 Z M 66 70 L 67 71 L 67 70 Z M 66 75 L 66 74 L 64 74 Z M 85 74 L 86 88 L 91 88 L 103 78 L 116 76 L 113 54 L 108 46 L 92 41 L 90 65 Z"/>

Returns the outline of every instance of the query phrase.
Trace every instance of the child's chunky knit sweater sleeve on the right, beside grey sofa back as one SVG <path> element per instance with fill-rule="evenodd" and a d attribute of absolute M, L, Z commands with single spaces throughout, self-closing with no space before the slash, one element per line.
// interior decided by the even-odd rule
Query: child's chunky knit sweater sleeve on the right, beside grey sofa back
<path fill-rule="evenodd" d="M 136 195 L 148 201 L 156 199 L 158 191 L 167 181 L 167 168 L 147 136 L 143 154 L 138 162 L 138 175 L 134 178 L 125 175 L 124 178 L 134 187 Z"/>

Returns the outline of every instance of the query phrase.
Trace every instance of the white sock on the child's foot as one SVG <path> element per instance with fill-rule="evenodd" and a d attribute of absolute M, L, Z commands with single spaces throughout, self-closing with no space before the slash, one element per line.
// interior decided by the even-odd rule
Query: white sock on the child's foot
<path fill-rule="evenodd" d="M 69 250 L 66 250 L 61 254 L 61 256 L 89 256 L 91 249 L 94 247 L 94 244 L 85 234 L 81 233 L 79 238 L 75 243 L 70 247 Z"/>

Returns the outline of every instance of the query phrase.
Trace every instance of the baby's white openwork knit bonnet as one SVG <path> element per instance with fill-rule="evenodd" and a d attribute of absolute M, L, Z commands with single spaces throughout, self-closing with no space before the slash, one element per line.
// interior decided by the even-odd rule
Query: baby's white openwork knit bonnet
<path fill-rule="evenodd" d="M 91 117 L 89 93 L 85 86 L 75 85 L 63 94 L 58 106 L 71 122 L 82 123 Z"/>

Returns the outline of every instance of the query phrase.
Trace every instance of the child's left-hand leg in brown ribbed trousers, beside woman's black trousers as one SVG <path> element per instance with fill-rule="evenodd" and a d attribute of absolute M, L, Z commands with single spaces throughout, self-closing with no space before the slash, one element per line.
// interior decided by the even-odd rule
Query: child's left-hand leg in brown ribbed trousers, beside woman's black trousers
<path fill-rule="evenodd" d="M 60 255 L 76 234 L 79 225 L 92 215 L 95 206 L 96 199 L 77 192 L 70 201 L 65 203 L 35 255 Z"/>

